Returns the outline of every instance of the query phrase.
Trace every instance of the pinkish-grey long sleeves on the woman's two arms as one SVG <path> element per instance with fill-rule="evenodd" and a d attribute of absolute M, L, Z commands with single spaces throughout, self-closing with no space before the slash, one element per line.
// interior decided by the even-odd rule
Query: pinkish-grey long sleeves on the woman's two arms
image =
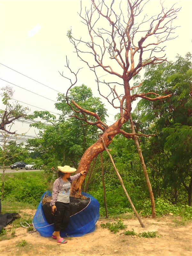
<path fill-rule="evenodd" d="M 79 178 L 80 176 L 81 176 L 81 173 L 79 172 L 73 176 L 70 176 L 68 178 L 68 181 L 71 183 L 74 180 L 76 180 L 77 178 Z M 63 184 L 64 184 L 64 181 L 62 180 L 61 177 L 59 177 L 57 180 L 54 181 L 53 190 L 52 190 L 52 200 L 50 203 L 51 206 L 54 205 L 55 202 L 57 201 L 58 194 L 60 192 L 60 189 L 63 187 Z"/>

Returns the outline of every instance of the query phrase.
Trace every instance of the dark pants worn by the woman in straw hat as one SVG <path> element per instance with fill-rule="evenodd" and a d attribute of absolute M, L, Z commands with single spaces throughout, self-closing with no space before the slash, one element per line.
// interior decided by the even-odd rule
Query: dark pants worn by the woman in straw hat
<path fill-rule="evenodd" d="M 56 202 L 55 205 L 57 211 L 54 214 L 54 231 L 65 231 L 70 217 L 69 203 Z"/>

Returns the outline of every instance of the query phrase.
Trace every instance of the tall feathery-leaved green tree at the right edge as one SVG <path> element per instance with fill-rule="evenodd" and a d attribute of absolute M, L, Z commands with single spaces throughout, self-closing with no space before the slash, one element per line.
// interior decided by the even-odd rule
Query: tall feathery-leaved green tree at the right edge
<path fill-rule="evenodd" d="M 137 126 L 145 129 L 148 120 L 148 129 L 157 132 L 157 136 L 145 146 L 145 156 L 163 178 L 164 188 L 171 185 L 174 189 L 175 203 L 180 185 L 183 184 L 188 192 L 189 205 L 192 193 L 191 68 L 190 53 L 186 54 L 186 58 L 177 56 L 177 61 L 172 64 L 148 66 L 139 90 L 153 90 L 162 95 L 170 93 L 171 97 L 162 100 L 160 105 L 155 101 L 140 100 L 136 109 L 140 113 Z"/>

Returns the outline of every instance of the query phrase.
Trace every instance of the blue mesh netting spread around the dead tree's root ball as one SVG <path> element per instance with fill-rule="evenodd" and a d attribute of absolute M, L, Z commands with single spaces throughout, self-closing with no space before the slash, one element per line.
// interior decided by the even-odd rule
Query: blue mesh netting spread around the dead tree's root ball
<path fill-rule="evenodd" d="M 49 224 L 43 213 L 42 200 L 44 195 L 51 196 L 50 191 L 46 191 L 41 196 L 41 201 L 37 207 L 33 218 L 33 226 L 41 236 L 52 236 L 54 232 L 54 224 Z M 83 193 L 83 196 L 90 197 L 90 203 L 80 212 L 70 217 L 69 224 L 64 232 L 60 232 L 62 237 L 67 236 L 83 236 L 95 230 L 95 223 L 99 219 L 99 202 L 93 196 Z"/>

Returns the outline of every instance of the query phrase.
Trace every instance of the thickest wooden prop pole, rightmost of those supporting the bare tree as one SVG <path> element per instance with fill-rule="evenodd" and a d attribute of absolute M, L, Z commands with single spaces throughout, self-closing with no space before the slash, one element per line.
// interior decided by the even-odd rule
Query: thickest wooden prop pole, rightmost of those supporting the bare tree
<path fill-rule="evenodd" d="M 134 128 L 134 125 L 133 125 L 133 122 L 132 122 L 131 114 L 130 114 L 130 124 L 131 124 L 132 133 L 135 133 L 135 128 Z M 152 191 L 152 188 L 151 188 L 151 183 L 150 183 L 150 180 L 149 180 L 149 176 L 148 176 L 148 173 L 147 173 L 147 169 L 146 169 L 146 166 L 145 166 L 145 162 L 144 162 L 144 159 L 143 159 L 143 155 L 142 155 L 142 152 L 141 152 L 141 149 L 140 149 L 140 145 L 139 145 L 137 136 L 134 135 L 133 137 L 134 137 L 135 145 L 137 147 L 137 151 L 138 151 L 140 161 L 141 161 L 141 166 L 142 166 L 142 169 L 143 169 L 143 172 L 144 172 L 144 175 L 145 175 L 145 179 L 146 179 L 146 182 L 147 182 L 147 186 L 148 186 L 148 191 L 149 191 L 149 195 L 150 195 L 150 199 L 151 199 L 152 217 L 156 218 L 155 200 L 154 200 L 153 191 Z"/>

